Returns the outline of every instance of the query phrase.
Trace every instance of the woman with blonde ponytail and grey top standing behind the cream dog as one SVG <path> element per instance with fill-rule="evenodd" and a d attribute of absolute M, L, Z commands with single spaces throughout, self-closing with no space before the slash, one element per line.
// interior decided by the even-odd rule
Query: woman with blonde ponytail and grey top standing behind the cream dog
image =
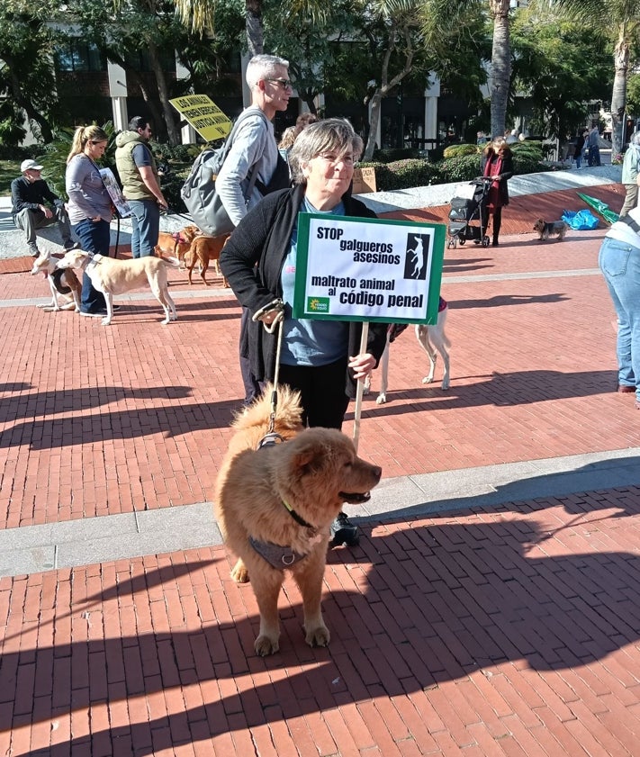
<path fill-rule="evenodd" d="M 95 161 L 103 157 L 108 140 L 99 126 L 78 126 L 68 154 L 65 176 L 73 230 L 86 252 L 104 256 L 109 255 L 113 205 Z M 95 318 L 106 315 L 104 294 L 94 289 L 84 271 L 80 314 Z"/>

